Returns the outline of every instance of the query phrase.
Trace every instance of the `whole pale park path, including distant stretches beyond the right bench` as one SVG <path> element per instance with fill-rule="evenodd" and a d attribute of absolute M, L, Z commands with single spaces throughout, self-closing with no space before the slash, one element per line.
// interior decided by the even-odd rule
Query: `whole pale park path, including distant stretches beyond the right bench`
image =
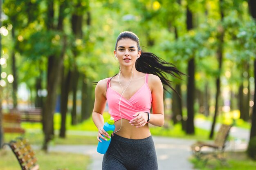
<path fill-rule="evenodd" d="M 195 126 L 209 130 L 211 122 L 197 119 L 195 120 Z M 217 130 L 219 127 L 220 124 L 216 124 Z M 80 133 L 81 135 L 95 135 L 95 132 Z M 232 127 L 230 135 L 233 136 L 235 140 L 229 142 L 227 150 L 245 150 L 247 141 L 249 140 L 249 130 Z M 191 157 L 190 146 L 195 140 L 156 136 L 153 136 L 153 139 L 157 152 L 159 170 L 195 170 L 188 160 L 189 157 Z M 56 145 L 50 146 L 49 149 L 50 151 L 74 152 L 90 155 L 92 157 L 92 163 L 90 164 L 89 169 L 101 170 L 103 155 L 96 151 L 96 145 Z"/>

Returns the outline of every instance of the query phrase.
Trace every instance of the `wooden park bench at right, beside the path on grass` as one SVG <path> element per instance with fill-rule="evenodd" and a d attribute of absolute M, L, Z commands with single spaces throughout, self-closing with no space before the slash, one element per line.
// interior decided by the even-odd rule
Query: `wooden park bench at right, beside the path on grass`
<path fill-rule="evenodd" d="M 223 153 L 225 151 L 230 129 L 231 125 L 222 124 L 213 143 L 197 141 L 191 146 L 193 155 L 198 160 L 204 161 L 204 163 L 207 163 L 211 158 L 218 159 L 221 163 L 225 163 Z"/>

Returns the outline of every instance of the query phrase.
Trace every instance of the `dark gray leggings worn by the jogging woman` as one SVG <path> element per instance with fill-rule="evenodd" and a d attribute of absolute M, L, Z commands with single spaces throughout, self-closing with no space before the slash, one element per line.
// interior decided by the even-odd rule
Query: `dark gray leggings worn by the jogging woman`
<path fill-rule="evenodd" d="M 102 170 L 158 170 L 152 136 L 127 139 L 115 134 L 104 154 Z"/>

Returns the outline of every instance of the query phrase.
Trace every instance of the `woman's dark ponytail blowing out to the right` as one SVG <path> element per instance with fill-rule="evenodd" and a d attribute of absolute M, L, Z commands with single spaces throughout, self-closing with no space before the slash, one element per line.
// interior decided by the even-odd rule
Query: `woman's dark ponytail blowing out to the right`
<path fill-rule="evenodd" d="M 172 63 L 164 61 L 153 53 L 141 52 L 140 57 L 136 60 L 135 67 L 137 71 L 142 73 L 157 75 L 161 79 L 162 84 L 169 86 L 171 89 L 173 87 L 171 86 L 171 80 L 167 79 L 167 74 L 179 79 L 184 75 Z M 167 91 L 165 86 L 164 90 Z M 173 89 L 173 91 L 175 90 Z"/>

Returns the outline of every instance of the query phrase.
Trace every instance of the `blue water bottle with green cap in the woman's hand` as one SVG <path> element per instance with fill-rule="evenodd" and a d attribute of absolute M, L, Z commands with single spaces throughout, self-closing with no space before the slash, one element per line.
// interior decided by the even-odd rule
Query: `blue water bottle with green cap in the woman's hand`
<path fill-rule="evenodd" d="M 99 142 L 98 147 L 97 147 L 97 152 L 101 153 L 101 154 L 105 154 L 108 150 L 108 146 L 110 144 L 111 141 L 111 134 L 114 132 L 115 130 L 115 125 L 114 125 L 115 121 L 113 117 L 110 117 L 110 119 L 108 119 L 108 121 L 104 124 L 103 129 L 108 132 L 108 135 L 110 136 L 110 138 L 105 137 L 107 139 L 107 141 L 101 139 L 102 142 Z"/>

